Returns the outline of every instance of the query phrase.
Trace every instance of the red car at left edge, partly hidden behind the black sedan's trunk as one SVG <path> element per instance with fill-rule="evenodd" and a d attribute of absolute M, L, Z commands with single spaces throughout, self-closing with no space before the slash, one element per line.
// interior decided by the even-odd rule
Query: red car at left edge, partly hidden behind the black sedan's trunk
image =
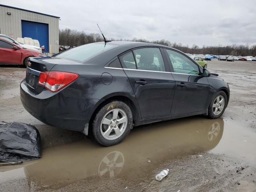
<path fill-rule="evenodd" d="M 45 57 L 46 55 L 24 49 L 17 44 L 0 38 L 0 64 L 25 65 L 29 57 Z"/>

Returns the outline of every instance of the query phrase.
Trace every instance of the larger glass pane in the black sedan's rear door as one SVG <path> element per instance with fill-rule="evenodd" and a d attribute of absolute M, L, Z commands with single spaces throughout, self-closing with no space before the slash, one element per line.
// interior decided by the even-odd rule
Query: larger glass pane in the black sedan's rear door
<path fill-rule="evenodd" d="M 159 48 L 141 48 L 133 51 L 138 69 L 150 71 L 166 71 Z"/>

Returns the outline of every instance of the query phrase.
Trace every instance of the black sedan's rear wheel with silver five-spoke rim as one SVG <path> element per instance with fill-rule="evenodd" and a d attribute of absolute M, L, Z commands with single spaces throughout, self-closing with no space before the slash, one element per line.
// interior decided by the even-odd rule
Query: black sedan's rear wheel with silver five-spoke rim
<path fill-rule="evenodd" d="M 132 111 L 122 101 L 104 105 L 96 114 L 92 124 L 94 139 L 102 146 L 120 143 L 132 128 Z"/>

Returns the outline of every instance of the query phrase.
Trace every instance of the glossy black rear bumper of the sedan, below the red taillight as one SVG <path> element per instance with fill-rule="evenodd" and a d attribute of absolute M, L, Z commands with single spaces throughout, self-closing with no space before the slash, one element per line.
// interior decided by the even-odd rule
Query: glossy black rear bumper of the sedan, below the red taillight
<path fill-rule="evenodd" d="M 94 107 L 99 101 L 64 96 L 61 92 L 56 94 L 46 89 L 34 95 L 27 88 L 25 80 L 20 83 L 20 100 L 24 108 L 41 122 L 79 132 L 89 123 Z"/>

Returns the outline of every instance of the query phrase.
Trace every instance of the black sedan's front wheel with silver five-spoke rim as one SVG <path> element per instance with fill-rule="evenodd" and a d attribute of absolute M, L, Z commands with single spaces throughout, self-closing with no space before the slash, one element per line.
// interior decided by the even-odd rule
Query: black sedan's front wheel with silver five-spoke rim
<path fill-rule="evenodd" d="M 222 116 L 227 106 L 228 98 L 224 91 L 214 94 L 212 102 L 208 108 L 208 117 L 216 119 Z"/>

